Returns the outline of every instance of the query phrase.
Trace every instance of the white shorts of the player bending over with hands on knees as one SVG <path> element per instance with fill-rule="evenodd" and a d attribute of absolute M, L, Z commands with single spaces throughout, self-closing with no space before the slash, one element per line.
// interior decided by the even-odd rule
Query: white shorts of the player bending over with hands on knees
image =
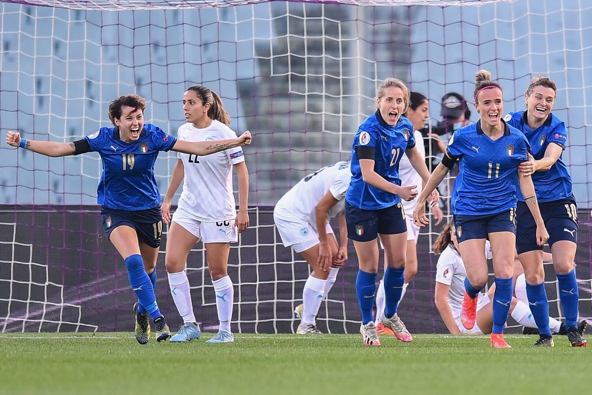
<path fill-rule="evenodd" d="M 303 252 L 318 244 L 317 229 L 308 221 L 298 218 L 289 220 L 279 218 L 274 212 L 274 222 L 279 236 L 282 237 L 284 247 L 291 246 L 295 252 Z M 327 235 L 329 233 L 333 234 L 333 229 L 329 223 L 327 223 L 326 232 Z"/>

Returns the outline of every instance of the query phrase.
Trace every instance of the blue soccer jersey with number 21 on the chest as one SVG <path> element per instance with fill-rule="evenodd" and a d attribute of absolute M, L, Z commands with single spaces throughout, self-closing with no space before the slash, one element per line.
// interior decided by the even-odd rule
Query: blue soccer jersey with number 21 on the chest
<path fill-rule="evenodd" d="M 352 146 L 352 181 L 346 192 L 346 201 L 362 210 L 379 210 L 401 201 L 393 195 L 374 187 L 362 179 L 362 169 L 356 155 L 356 147 L 374 147 L 374 171 L 392 184 L 401 185 L 399 162 L 405 150 L 415 147 L 413 125 L 401 117 L 395 126 L 387 124 L 376 111 L 360 125 L 353 137 Z"/>

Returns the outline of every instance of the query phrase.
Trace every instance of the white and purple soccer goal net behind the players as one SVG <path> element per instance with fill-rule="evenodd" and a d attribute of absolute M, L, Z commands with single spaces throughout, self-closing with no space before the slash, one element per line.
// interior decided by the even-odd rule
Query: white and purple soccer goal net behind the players
<path fill-rule="evenodd" d="M 309 268 L 282 245 L 274 204 L 303 176 L 350 158 L 352 136 L 374 112 L 379 83 L 395 76 L 429 98 L 425 134 L 445 140 L 438 122 L 449 92 L 466 98 L 471 114 L 465 115 L 478 119 L 471 105 L 478 69 L 503 85 L 506 113 L 524 108 L 525 89 L 540 73 L 556 82 L 554 113 L 570 133 L 563 155 L 580 207 L 580 312 L 592 317 L 591 36 L 587 0 L 3 1 L 0 127 L 3 134 L 72 142 L 110 125 L 113 98 L 136 93 L 147 100 L 146 120 L 174 135 L 184 123 L 188 86 L 218 92 L 232 129 L 253 133 L 245 149 L 251 226 L 229 262 L 233 329 L 293 332 Z M 437 144 L 426 146 L 434 163 Z M 174 153 L 157 160 L 161 192 L 175 161 Z M 99 156 L 47 158 L 2 143 L 0 169 L 0 330 L 131 330 L 134 296 L 96 206 Z M 448 185 L 442 185 L 445 214 Z M 441 228 L 432 221 L 419 236 L 419 271 L 400 307 L 412 333 L 446 330 L 433 303 L 437 256 L 430 247 Z M 165 245 L 166 234 L 156 292 L 176 325 Z M 187 264 L 196 316 L 214 329 L 201 244 Z M 321 305 L 321 330 L 358 330 L 357 266 L 352 247 Z M 552 266 L 546 271 L 551 315 L 561 317 Z"/>

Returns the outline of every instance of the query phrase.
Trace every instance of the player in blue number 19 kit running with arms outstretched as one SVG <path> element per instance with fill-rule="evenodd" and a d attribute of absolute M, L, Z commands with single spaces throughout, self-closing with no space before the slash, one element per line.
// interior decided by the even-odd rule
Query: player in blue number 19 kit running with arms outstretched
<path fill-rule="evenodd" d="M 144 124 L 146 101 L 124 95 L 109 104 L 108 117 L 114 127 L 102 127 L 72 143 L 41 142 L 21 138 L 9 131 L 6 142 L 47 156 L 60 157 L 98 152 L 103 163 L 97 188 L 101 220 L 110 242 L 126 262 L 127 275 L 138 303 L 136 340 L 146 344 L 152 319 L 156 340 L 169 338 L 165 317 L 156 304 L 156 258 L 160 249 L 162 216 L 160 193 L 156 187 L 154 164 L 160 151 L 173 150 L 191 155 L 210 155 L 250 144 L 248 131 L 237 139 L 184 142 L 159 127 Z"/>

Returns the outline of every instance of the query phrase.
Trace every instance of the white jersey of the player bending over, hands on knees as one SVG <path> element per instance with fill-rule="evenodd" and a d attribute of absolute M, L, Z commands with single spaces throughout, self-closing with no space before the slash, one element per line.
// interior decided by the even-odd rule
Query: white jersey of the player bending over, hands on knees
<path fill-rule="evenodd" d="M 281 219 L 301 219 L 316 226 L 314 208 L 330 191 L 337 200 L 327 213 L 327 220 L 345 210 L 345 192 L 348 190 L 352 172 L 350 162 L 337 162 L 313 174 L 305 176 L 278 201 L 275 215 Z"/>

